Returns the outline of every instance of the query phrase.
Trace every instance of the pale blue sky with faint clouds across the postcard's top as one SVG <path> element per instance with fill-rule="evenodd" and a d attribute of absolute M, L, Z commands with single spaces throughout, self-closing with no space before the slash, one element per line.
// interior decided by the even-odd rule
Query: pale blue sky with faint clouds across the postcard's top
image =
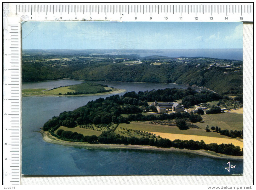
<path fill-rule="evenodd" d="M 22 22 L 23 49 L 242 48 L 242 22 Z"/>

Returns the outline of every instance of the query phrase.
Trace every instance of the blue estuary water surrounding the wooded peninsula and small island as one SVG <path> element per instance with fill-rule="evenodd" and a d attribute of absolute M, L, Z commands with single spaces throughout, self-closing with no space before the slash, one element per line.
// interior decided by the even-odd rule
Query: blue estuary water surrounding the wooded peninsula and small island
<path fill-rule="evenodd" d="M 53 88 L 83 81 L 63 79 L 22 84 Z M 175 84 L 97 82 L 127 91 L 187 88 Z M 196 90 L 199 90 L 196 89 Z M 120 93 L 122 95 L 124 93 Z M 24 175 L 231 175 L 243 173 L 243 161 L 153 150 L 79 148 L 47 143 L 38 132 L 53 116 L 111 95 L 22 98 L 22 174 Z M 225 169 L 227 162 L 236 165 Z"/>

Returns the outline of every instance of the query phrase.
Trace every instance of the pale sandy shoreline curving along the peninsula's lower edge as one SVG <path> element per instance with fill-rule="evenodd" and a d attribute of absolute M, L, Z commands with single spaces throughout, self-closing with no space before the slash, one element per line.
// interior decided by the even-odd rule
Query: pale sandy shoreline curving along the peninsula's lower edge
<path fill-rule="evenodd" d="M 215 153 L 213 151 L 207 150 L 188 150 L 188 149 L 178 149 L 178 148 L 158 148 L 148 145 L 123 145 L 123 144 L 90 144 L 90 143 L 81 143 L 81 142 L 69 142 L 60 140 L 49 134 L 47 131 L 39 131 L 43 140 L 48 143 L 61 144 L 73 147 L 85 147 L 85 148 L 105 148 L 105 149 L 140 149 L 140 150 L 157 150 L 157 151 L 171 151 L 171 152 L 181 152 L 181 153 L 191 153 L 202 156 L 208 156 L 219 159 L 229 159 L 229 160 L 243 160 L 243 156 L 231 156 L 225 154 Z"/>

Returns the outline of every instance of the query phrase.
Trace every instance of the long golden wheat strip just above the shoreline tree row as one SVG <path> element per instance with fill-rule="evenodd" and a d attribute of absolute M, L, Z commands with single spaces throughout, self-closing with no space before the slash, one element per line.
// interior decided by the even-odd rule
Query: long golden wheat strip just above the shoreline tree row
<path fill-rule="evenodd" d="M 150 131 L 148 131 L 148 132 L 150 132 Z M 156 134 L 156 136 L 160 135 L 160 137 L 162 137 L 162 138 L 168 138 L 171 141 L 173 141 L 175 139 L 194 140 L 194 141 L 203 140 L 206 144 L 210 144 L 210 143 L 217 143 L 217 144 L 232 143 L 235 146 L 240 146 L 240 148 L 243 148 L 243 142 L 238 141 L 236 139 L 231 139 L 231 138 L 206 137 L 206 136 L 199 136 L 199 135 L 181 135 L 181 134 L 172 134 L 172 133 L 163 133 L 163 132 L 151 132 L 151 133 Z"/>

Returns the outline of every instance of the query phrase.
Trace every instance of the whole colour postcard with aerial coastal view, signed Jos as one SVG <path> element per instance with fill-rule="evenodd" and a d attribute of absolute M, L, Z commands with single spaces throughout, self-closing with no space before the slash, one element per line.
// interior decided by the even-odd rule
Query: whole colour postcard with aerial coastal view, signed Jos
<path fill-rule="evenodd" d="M 242 22 L 29 21 L 22 175 L 242 175 Z"/>

